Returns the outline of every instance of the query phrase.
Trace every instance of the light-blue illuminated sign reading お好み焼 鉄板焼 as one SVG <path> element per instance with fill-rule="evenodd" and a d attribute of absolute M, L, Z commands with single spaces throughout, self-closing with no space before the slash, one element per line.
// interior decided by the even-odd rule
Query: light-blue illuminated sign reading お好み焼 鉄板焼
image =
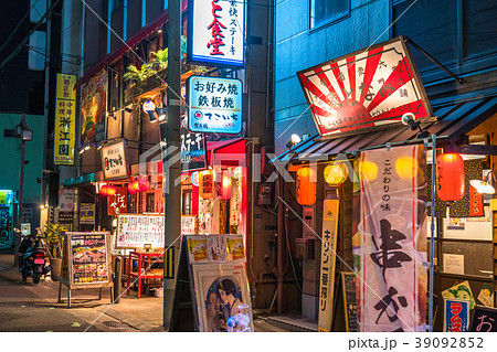
<path fill-rule="evenodd" d="M 193 132 L 240 134 L 242 82 L 191 76 L 188 79 L 188 129 Z"/>

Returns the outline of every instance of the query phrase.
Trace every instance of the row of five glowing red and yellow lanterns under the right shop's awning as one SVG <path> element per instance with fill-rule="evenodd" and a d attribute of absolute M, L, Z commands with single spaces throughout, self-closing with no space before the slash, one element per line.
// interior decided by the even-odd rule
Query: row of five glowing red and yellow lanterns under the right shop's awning
<path fill-rule="evenodd" d="M 402 160 L 401 160 L 402 159 Z M 409 160 L 408 160 L 409 159 Z M 413 178 L 417 173 L 417 164 L 412 158 L 400 158 L 396 167 L 400 178 Z M 377 178 L 378 167 L 366 161 L 360 164 L 361 179 L 372 181 Z M 347 179 L 347 168 L 342 163 L 335 163 L 325 168 L 325 181 L 330 185 L 340 185 Z M 464 196 L 464 160 L 457 153 L 444 153 L 436 158 L 437 195 L 442 201 L 454 202 Z M 297 202 L 300 205 L 316 203 L 317 177 L 316 170 L 303 167 L 297 171 Z"/>

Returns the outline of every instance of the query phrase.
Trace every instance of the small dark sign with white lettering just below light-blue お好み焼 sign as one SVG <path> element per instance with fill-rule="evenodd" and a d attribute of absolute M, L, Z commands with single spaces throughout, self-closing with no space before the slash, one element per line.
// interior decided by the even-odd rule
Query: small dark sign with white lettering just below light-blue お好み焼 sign
<path fill-rule="evenodd" d="M 181 171 L 194 171 L 207 168 L 203 134 L 190 132 L 186 119 L 181 120 Z"/>

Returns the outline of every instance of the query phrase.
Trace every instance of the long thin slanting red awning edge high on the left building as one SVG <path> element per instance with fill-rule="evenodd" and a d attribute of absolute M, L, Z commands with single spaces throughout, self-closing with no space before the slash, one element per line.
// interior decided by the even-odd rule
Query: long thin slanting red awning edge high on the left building
<path fill-rule="evenodd" d="M 187 11 L 187 4 L 188 1 L 182 1 L 181 3 L 181 13 Z M 95 66 L 93 66 L 88 72 L 85 73 L 83 77 L 81 77 L 76 84 L 74 85 L 74 89 L 76 89 L 82 84 L 86 83 L 89 78 L 92 78 L 96 73 L 101 72 L 105 66 L 108 64 L 112 64 L 114 61 L 116 61 L 118 57 L 120 57 L 124 53 L 129 51 L 129 47 L 133 47 L 135 44 L 141 42 L 145 38 L 147 38 L 151 32 L 157 30 L 160 25 L 166 23 L 169 20 L 169 11 L 166 9 L 166 11 L 162 13 L 161 17 L 159 17 L 154 22 L 150 22 L 146 26 L 144 26 L 138 33 L 136 33 L 134 36 L 131 36 L 129 40 L 126 41 L 126 44 L 123 44 L 119 49 L 116 49 L 112 53 L 109 53 L 107 56 L 105 56 L 103 60 L 101 60 Z"/>

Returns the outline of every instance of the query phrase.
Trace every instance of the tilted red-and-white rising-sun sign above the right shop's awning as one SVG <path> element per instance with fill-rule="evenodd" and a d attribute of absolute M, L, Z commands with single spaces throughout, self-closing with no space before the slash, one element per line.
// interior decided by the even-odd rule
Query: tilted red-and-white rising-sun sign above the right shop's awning
<path fill-rule="evenodd" d="M 297 73 L 322 137 L 432 116 L 404 38 Z"/>

